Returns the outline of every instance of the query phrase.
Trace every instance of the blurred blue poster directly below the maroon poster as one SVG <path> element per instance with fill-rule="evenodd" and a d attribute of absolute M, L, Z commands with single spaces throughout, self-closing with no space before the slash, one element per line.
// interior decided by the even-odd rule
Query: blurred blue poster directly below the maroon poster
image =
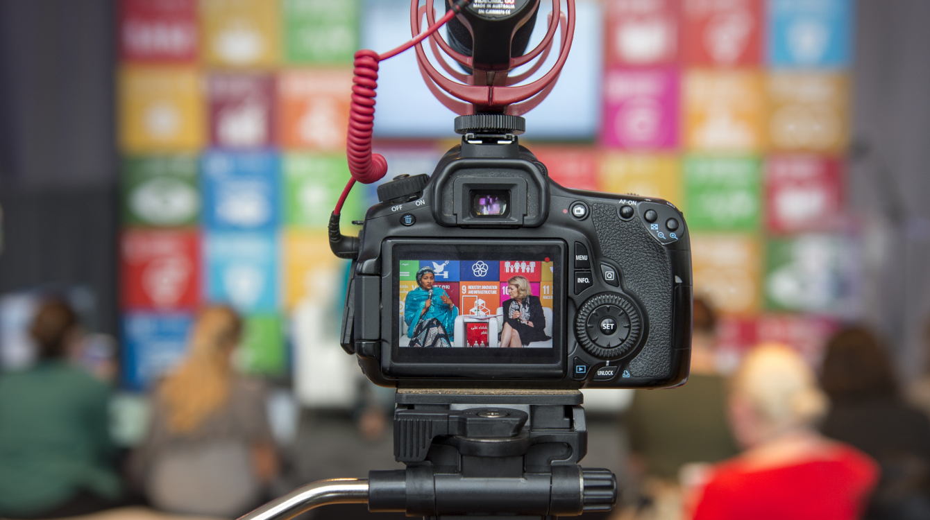
<path fill-rule="evenodd" d="M 280 160 L 272 152 L 211 151 L 203 159 L 204 224 L 271 231 L 278 222 Z"/>

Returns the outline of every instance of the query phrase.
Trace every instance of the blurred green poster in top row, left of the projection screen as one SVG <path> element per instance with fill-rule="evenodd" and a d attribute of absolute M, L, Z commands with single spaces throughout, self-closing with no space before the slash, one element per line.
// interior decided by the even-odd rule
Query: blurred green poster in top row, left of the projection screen
<path fill-rule="evenodd" d="M 288 63 L 352 63 L 358 49 L 358 0 L 284 0 Z"/>

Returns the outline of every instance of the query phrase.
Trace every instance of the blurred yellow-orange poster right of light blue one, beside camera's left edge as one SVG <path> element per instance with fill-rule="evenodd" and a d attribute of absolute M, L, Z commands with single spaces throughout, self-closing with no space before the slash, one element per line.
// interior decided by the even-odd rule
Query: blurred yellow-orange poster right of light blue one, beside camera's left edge
<path fill-rule="evenodd" d="M 294 308 L 306 298 L 329 298 L 337 293 L 341 296 L 346 262 L 329 250 L 325 232 L 288 229 L 283 242 L 282 281 L 286 309 Z"/>

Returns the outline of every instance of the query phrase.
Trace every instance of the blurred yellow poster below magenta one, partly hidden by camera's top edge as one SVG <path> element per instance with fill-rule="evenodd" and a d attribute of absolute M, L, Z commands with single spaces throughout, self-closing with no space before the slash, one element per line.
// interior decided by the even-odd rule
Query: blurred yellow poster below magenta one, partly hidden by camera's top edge
<path fill-rule="evenodd" d="M 671 155 L 607 153 L 601 158 L 598 189 L 658 197 L 681 208 L 681 171 Z"/>

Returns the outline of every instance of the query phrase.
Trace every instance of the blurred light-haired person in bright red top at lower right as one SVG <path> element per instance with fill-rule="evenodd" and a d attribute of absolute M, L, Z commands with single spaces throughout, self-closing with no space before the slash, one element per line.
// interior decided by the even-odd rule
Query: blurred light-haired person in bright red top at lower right
<path fill-rule="evenodd" d="M 730 395 L 739 456 L 711 469 L 692 497 L 696 520 L 853 520 L 878 478 L 874 461 L 820 435 L 827 396 L 794 350 L 747 355 Z"/>

